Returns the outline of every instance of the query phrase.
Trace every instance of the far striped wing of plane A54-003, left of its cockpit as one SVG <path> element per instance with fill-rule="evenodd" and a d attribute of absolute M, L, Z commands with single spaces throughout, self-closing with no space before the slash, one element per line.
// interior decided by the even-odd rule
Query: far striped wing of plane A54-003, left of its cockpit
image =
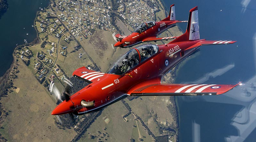
<path fill-rule="evenodd" d="M 80 67 L 73 72 L 73 76 L 82 79 L 88 83 L 99 80 L 105 73 L 89 70 L 86 67 Z"/>

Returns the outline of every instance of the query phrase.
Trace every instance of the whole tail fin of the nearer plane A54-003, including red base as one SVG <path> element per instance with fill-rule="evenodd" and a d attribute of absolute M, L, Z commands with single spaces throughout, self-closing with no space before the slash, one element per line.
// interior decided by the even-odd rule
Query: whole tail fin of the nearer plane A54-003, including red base
<path fill-rule="evenodd" d="M 187 26 L 186 32 L 183 35 L 180 35 L 175 40 L 171 41 L 170 43 L 175 43 L 180 41 L 189 41 L 189 40 L 198 40 L 198 39 L 200 39 L 200 35 L 199 35 L 198 10 L 196 6 L 189 11 L 188 26 Z"/>

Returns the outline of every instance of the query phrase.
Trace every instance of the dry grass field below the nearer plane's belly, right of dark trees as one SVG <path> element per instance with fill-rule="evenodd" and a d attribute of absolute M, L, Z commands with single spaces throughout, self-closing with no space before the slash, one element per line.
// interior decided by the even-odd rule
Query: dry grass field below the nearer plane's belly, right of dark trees
<path fill-rule="evenodd" d="M 106 133 L 109 137 L 106 137 L 107 142 L 112 141 L 129 141 L 132 135 L 132 129 L 134 124 L 134 117 L 132 114 L 128 116 L 129 121 L 124 122 L 122 116 L 128 113 L 128 110 L 125 108 L 121 101 L 118 101 L 107 108 L 105 108 L 102 114 L 95 120 L 95 122 L 91 125 L 91 127 L 87 130 L 85 135 L 79 140 L 79 142 L 84 141 L 98 141 L 101 133 Z M 109 122 L 106 123 L 105 119 L 108 118 Z M 104 128 L 107 128 L 104 130 Z M 95 139 L 90 139 L 89 135 L 97 136 Z M 99 136 L 98 136 L 99 135 Z M 105 139 L 105 137 L 104 137 Z M 102 139 L 103 141 L 106 141 Z"/>

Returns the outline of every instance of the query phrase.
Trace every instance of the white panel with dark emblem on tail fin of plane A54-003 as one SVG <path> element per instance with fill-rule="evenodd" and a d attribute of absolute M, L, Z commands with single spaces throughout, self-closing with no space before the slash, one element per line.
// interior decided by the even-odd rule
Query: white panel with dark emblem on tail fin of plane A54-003
<path fill-rule="evenodd" d="M 191 11 L 193 10 L 193 11 Z M 197 40 L 200 39 L 199 36 L 199 23 L 198 23 L 198 10 L 197 7 L 190 10 L 189 21 L 190 25 L 188 28 L 189 32 L 189 40 Z"/>

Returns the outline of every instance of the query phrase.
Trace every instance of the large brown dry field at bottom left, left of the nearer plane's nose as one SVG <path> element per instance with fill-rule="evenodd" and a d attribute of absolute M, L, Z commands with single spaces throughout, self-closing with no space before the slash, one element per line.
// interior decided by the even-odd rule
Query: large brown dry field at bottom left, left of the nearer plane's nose
<path fill-rule="evenodd" d="M 18 79 L 14 85 L 20 88 L 1 103 L 9 115 L 3 123 L 1 134 L 9 141 L 70 141 L 76 135 L 73 129 L 60 130 L 54 124 L 51 111 L 56 107 L 46 89 L 38 83 L 34 75 L 19 59 Z"/>

